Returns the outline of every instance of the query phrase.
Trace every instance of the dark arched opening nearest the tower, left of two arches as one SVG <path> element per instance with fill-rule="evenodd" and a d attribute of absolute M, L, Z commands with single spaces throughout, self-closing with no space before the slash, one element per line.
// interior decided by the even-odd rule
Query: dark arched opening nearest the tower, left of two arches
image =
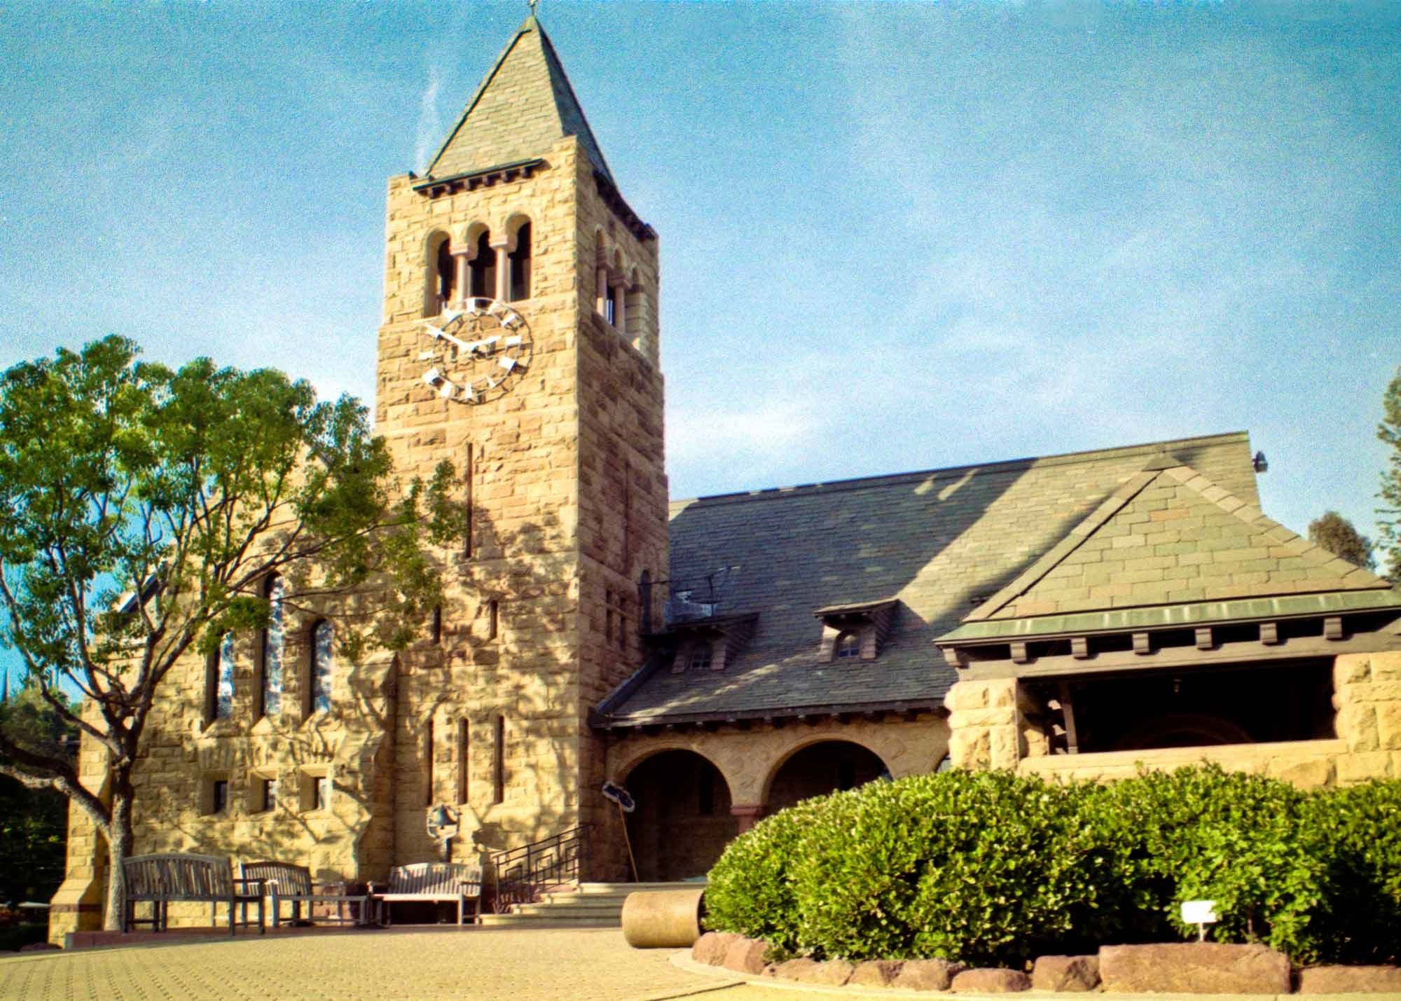
<path fill-rule="evenodd" d="M 637 803 L 628 837 L 643 882 L 703 876 L 738 834 L 724 775 L 695 751 L 658 751 L 633 765 L 623 785 Z"/>

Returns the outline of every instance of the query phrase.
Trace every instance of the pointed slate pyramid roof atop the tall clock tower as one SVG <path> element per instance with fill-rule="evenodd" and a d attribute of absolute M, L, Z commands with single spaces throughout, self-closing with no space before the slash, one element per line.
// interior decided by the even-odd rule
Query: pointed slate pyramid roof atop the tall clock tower
<path fill-rule="evenodd" d="M 531 15 L 467 102 L 429 164 L 429 177 L 457 177 L 531 160 L 563 136 L 577 136 L 594 168 L 614 182 L 555 46 Z"/>

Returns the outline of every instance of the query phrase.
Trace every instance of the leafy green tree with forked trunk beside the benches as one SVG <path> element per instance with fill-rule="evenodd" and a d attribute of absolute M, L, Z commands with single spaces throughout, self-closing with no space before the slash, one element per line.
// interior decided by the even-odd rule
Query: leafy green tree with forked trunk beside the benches
<path fill-rule="evenodd" d="M 0 774 L 92 819 L 111 862 L 108 928 L 142 733 L 175 663 L 265 627 L 273 575 L 284 607 L 338 617 L 352 660 L 371 644 L 399 649 L 440 600 L 426 545 L 461 529 L 451 465 L 401 491 L 356 400 L 318 401 L 273 370 L 137 356 L 108 336 L 0 376 L 0 638 L 108 758 L 105 789 L 90 788 L 66 756 L 0 732 Z M 335 600 L 352 592 L 361 600 Z"/>

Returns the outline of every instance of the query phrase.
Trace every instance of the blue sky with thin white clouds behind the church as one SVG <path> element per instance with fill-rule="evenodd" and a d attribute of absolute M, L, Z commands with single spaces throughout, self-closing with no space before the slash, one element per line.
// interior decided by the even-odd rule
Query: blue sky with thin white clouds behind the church
<path fill-rule="evenodd" d="M 524 3 L 0 3 L 0 366 L 374 391 L 384 191 Z M 1401 7 L 605 3 L 539 17 L 660 233 L 672 493 L 1248 429 L 1374 534 Z"/>

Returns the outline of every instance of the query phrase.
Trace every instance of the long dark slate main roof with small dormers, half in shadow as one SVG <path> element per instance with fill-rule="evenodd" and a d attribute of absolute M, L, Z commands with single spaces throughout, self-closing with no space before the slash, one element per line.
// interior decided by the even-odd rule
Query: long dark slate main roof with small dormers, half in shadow
<path fill-rule="evenodd" d="M 672 502 L 671 589 L 689 601 L 672 607 L 758 613 L 754 636 L 723 672 L 643 667 L 604 722 L 939 705 L 954 672 L 933 641 L 1168 456 L 1258 505 L 1244 432 Z M 815 611 L 885 599 L 874 660 L 818 659 Z"/>

